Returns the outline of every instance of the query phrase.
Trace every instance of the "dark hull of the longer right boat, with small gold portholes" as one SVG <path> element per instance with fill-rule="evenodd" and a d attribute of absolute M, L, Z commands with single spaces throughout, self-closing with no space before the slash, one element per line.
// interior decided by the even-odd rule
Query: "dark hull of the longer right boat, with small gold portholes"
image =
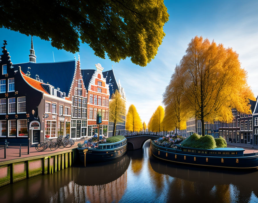
<path fill-rule="evenodd" d="M 222 168 L 257 168 L 258 154 L 251 153 L 244 156 L 223 156 L 223 155 L 209 155 L 209 154 L 193 154 L 182 150 L 170 149 L 155 145 L 151 142 L 151 153 L 158 159 L 172 161 L 175 163 L 183 163 L 198 166 L 213 166 Z"/>

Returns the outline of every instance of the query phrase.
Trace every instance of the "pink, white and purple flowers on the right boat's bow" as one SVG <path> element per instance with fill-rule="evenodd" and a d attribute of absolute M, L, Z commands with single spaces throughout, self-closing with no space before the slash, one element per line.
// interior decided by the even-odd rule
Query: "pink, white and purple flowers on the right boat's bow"
<path fill-rule="evenodd" d="M 153 144 L 169 147 L 169 148 L 176 148 L 175 144 L 179 144 L 185 140 L 185 137 L 179 135 L 166 135 L 156 140 L 152 140 Z"/>

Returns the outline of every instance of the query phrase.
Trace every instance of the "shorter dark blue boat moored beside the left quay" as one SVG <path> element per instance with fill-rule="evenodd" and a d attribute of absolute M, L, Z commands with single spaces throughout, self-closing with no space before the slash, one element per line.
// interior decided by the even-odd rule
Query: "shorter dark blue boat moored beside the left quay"
<path fill-rule="evenodd" d="M 124 137 L 124 136 L 121 136 Z M 127 151 L 127 139 L 113 143 L 102 143 L 98 148 L 77 148 L 81 162 L 84 161 L 108 161 L 123 156 Z"/>

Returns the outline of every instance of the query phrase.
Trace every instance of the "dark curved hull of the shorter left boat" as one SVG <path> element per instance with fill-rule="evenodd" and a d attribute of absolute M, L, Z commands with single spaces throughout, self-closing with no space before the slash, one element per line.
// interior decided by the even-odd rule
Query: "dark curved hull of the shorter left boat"
<path fill-rule="evenodd" d="M 86 148 L 77 149 L 79 151 L 80 161 L 83 163 L 84 161 L 109 161 L 122 157 L 127 151 L 127 143 L 114 149 L 88 149 L 86 155 L 84 155 Z"/>

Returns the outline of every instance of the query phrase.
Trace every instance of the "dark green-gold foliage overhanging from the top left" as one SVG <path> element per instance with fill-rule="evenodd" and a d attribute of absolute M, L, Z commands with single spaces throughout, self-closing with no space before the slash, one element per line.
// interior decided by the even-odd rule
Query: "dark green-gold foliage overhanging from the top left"
<path fill-rule="evenodd" d="M 0 26 L 51 40 L 51 45 L 75 53 L 87 43 L 94 54 L 112 61 L 131 57 L 146 66 L 157 54 L 168 21 L 163 1 L 26 1 L 0 4 Z M 20 12 L 26 13 L 21 15 Z"/>

